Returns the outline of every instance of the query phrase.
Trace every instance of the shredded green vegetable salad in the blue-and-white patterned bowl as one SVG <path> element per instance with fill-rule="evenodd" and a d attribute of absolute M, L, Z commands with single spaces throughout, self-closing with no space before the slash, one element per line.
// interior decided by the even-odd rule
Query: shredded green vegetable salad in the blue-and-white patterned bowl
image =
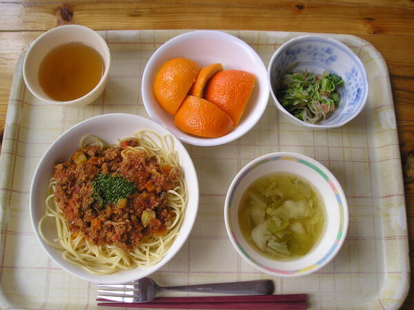
<path fill-rule="evenodd" d="M 344 84 L 341 76 L 325 71 L 286 72 L 277 92 L 277 100 L 293 116 L 306 123 L 316 124 L 327 118 L 337 107 L 340 97 L 337 87 Z"/>

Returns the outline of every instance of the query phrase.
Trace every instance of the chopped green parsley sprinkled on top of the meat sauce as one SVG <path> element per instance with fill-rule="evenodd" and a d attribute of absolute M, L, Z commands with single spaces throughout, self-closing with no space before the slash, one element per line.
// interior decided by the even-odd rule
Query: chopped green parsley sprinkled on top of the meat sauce
<path fill-rule="evenodd" d="M 101 200 L 103 205 L 117 203 L 119 199 L 128 198 L 137 190 L 134 183 L 126 178 L 108 174 L 99 174 L 92 181 L 92 187 L 95 198 Z"/>

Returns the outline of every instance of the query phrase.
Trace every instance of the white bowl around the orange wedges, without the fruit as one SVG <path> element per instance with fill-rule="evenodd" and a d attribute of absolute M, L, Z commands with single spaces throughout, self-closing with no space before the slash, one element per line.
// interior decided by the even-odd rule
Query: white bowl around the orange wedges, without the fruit
<path fill-rule="evenodd" d="M 201 67 L 221 63 L 224 70 L 244 70 L 255 75 L 255 87 L 246 110 L 239 125 L 229 134 L 219 138 L 201 138 L 186 134 L 175 126 L 173 116 L 161 108 L 152 90 L 155 74 L 161 65 L 175 57 L 186 57 L 199 63 Z M 262 117 L 268 103 L 269 90 L 266 67 L 250 45 L 226 32 L 196 30 L 170 39 L 152 54 L 142 76 L 141 95 L 150 117 L 168 128 L 181 141 L 192 145 L 211 146 L 229 143 L 246 134 Z"/>

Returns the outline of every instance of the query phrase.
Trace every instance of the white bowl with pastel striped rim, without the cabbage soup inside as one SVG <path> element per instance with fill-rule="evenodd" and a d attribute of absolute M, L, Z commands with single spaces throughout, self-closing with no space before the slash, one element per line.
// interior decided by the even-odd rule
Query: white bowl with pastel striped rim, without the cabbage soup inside
<path fill-rule="evenodd" d="M 289 172 L 301 176 L 313 185 L 324 201 L 324 231 L 319 242 L 302 258 L 266 258 L 248 245 L 240 231 L 237 212 L 244 191 L 254 180 L 272 172 Z M 341 185 L 326 167 L 308 156 L 277 152 L 256 158 L 235 176 L 227 192 L 224 220 L 233 246 L 248 264 L 273 276 L 296 277 L 317 271 L 335 257 L 342 247 L 348 229 L 348 205 Z"/>

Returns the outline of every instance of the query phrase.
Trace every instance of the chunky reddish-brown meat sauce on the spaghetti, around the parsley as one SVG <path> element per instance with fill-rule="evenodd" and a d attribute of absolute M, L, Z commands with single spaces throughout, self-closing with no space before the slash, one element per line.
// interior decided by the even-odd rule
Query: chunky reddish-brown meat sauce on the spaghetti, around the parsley
<path fill-rule="evenodd" d="M 173 220 L 166 207 L 167 191 L 181 177 L 178 167 L 159 166 L 144 150 L 121 151 L 137 146 L 131 138 L 119 146 L 99 149 L 86 146 L 70 161 L 55 165 L 55 201 L 68 221 L 72 237 L 81 233 L 94 245 L 117 245 L 130 251 L 146 236 L 163 236 Z M 135 185 L 128 197 L 117 202 L 97 198 L 93 182 L 97 176 L 121 176 Z"/>

